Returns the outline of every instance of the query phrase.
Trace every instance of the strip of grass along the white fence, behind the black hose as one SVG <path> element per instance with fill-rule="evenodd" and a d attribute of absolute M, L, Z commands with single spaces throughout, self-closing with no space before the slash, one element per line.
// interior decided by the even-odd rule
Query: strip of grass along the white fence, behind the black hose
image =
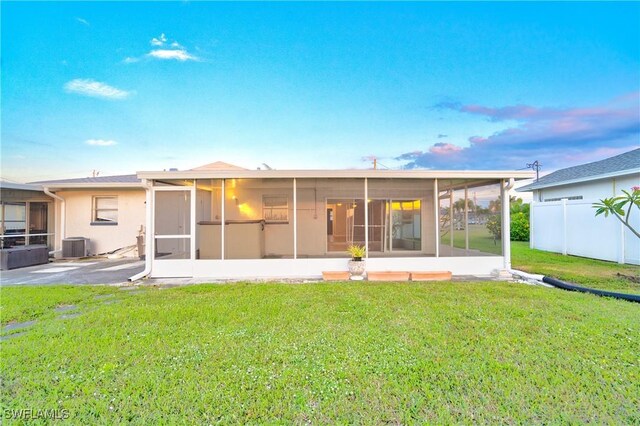
<path fill-rule="evenodd" d="M 515 269 L 534 274 L 549 275 L 563 281 L 602 290 L 640 294 L 640 284 L 619 277 L 640 277 L 640 266 L 620 265 L 615 262 L 563 256 L 541 250 L 532 250 L 528 242 L 511 242 L 511 263 Z"/>

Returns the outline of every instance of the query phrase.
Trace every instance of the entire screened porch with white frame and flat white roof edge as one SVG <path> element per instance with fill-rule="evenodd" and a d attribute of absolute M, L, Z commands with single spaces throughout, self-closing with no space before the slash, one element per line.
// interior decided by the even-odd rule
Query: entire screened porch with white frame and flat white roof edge
<path fill-rule="evenodd" d="M 346 270 L 351 244 L 368 248 L 367 271 L 508 269 L 509 239 L 477 223 L 479 206 L 483 217 L 501 215 L 509 235 L 508 203 L 507 214 L 487 206 L 494 201 L 495 209 L 514 179 L 532 173 L 246 170 L 213 163 L 137 176 L 148 188 L 151 230 L 141 275 L 242 279 Z M 474 208 L 464 200 L 475 201 Z"/>

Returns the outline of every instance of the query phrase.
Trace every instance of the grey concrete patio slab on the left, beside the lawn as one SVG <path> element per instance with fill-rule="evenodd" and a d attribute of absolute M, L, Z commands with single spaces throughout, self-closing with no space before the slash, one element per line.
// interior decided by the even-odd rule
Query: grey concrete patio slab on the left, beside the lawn
<path fill-rule="evenodd" d="M 2 271 L 0 285 L 123 284 L 128 283 L 129 277 L 142 272 L 143 269 L 144 263 L 138 258 L 54 261 L 44 265 Z"/>

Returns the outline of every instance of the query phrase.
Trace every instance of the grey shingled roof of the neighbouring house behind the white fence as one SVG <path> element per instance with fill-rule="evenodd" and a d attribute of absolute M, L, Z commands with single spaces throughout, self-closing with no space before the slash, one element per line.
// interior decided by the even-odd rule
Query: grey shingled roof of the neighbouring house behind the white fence
<path fill-rule="evenodd" d="M 518 188 L 517 191 L 533 191 L 634 173 L 640 173 L 640 148 L 593 163 L 557 170 L 541 177 L 537 182 Z"/>

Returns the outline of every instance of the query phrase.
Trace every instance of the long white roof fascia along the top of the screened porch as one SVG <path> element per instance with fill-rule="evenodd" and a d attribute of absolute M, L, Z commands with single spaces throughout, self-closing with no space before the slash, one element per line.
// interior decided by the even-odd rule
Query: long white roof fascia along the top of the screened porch
<path fill-rule="evenodd" d="M 531 179 L 533 171 L 518 170 L 183 170 L 141 171 L 140 179 Z"/>

